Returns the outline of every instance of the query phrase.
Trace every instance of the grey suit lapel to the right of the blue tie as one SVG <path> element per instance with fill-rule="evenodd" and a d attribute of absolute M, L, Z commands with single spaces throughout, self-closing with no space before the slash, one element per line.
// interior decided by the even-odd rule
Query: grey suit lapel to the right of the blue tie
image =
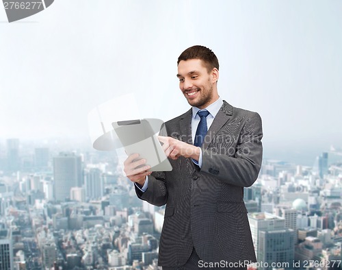
<path fill-rule="evenodd" d="M 231 118 L 233 114 L 233 106 L 231 106 L 226 101 L 223 101 L 223 105 L 216 114 L 213 123 L 209 127 L 208 133 L 205 136 L 205 141 L 203 142 L 202 148 L 207 149 L 210 145 L 211 141 L 218 133 L 218 131 L 227 123 L 227 121 Z M 191 120 L 191 119 L 190 119 Z"/>

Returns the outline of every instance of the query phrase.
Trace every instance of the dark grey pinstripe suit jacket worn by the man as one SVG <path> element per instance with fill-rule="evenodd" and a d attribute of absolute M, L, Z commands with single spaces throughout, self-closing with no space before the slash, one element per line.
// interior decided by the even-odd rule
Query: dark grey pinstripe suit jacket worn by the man
<path fill-rule="evenodd" d="M 192 110 L 166 122 L 168 136 L 192 143 Z M 226 101 L 202 145 L 202 167 L 189 158 L 170 160 L 172 171 L 153 172 L 137 196 L 166 204 L 159 265 L 180 267 L 193 247 L 205 262 L 256 261 L 244 186 L 251 186 L 262 160 L 261 118 Z"/>

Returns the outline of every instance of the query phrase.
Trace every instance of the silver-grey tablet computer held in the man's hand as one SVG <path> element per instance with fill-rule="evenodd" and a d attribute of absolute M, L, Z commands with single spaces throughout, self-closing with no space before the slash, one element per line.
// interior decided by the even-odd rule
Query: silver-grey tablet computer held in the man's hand
<path fill-rule="evenodd" d="M 146 119 L 113 122 L 120 142 L 127 155 L 139 154 L 150 165 L 148 171 L 172 171 L 172 166 Z M 144 165 L 142 165 L 144 166 Z"/>

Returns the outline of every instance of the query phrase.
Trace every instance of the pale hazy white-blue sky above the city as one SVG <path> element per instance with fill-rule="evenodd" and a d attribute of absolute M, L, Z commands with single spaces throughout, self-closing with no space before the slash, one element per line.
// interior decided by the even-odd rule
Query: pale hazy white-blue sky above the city
<path fill-rule="evenodd" d="M 142 117 L 178 116 L 176 59 L 205 45 L 268 151 L 342 146 L 341 14 L 339 0 L 55 0 L 8 23 L 0 8 L 0 139 L 88 136 L 88 112 L 125 93 Z"/>

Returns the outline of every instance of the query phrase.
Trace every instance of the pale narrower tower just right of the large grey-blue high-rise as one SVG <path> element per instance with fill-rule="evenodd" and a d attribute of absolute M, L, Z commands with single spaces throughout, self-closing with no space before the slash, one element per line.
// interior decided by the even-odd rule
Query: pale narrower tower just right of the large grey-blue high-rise
<path fill-rule="evenodd" d="M 103 180 L 100 169 L 86 169 L 84 173 L 84 186 L 87 199 L 98 199 L 103 196 Z"/>

